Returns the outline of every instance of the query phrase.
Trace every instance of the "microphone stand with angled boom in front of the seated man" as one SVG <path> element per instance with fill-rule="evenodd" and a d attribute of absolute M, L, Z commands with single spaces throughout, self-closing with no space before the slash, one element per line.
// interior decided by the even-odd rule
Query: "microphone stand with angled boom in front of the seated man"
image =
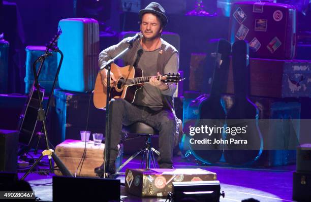
<path fill-rule="evenodd" d="M 107 70 L 107 97 L 106 97 L 106 130 L 105 130 L 105 154 L 104 154 L 104 178 L 109 177 L 108 175 L 106 176 L 106 165 L 109 166 L 109 160 L 110 160 L 110 137 L 111 133 L 109 131 L 109 93 L 110 93 L 110 72 L 111 72 L 111 64 L 114 63 L 114 61 L 118 58 L 120 58 L 123 54 L 125 54 L 128 50 L 130 50 L 133 47 L 133 42 L 129 43 L 129 47 L 124 49 L 122 52 L 120 52 L 117 56 L 114 58 L 108 60 L 105 65 L 103 65 L 100 69 L 106 69 Z M 109 170 L 109 167 L 108 167 Z"/>

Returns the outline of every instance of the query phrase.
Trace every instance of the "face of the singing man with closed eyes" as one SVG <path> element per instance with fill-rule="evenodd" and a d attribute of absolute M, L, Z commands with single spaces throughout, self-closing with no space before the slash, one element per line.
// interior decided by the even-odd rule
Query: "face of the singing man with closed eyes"
<path fill-rule="evenodd" d="M 160 37 L 162 28 L 159 18 L 152 13 L 145 13 L 141 20 L 140 31 L 146 40 Z"/>

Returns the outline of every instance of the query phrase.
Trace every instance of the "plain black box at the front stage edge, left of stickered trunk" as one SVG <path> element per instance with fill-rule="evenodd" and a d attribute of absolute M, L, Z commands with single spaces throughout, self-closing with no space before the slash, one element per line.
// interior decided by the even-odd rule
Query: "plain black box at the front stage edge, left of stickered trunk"
<path fill-rule="evenodd" d="M 120 180 L 53 176 L 53 201 L 120 201 Z"/>

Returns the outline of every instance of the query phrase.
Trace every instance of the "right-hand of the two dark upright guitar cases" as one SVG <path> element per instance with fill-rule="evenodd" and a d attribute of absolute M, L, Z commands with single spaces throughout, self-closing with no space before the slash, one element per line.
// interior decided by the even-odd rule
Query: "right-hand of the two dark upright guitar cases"
<path fill-rule="evenodd" d="M 238 144 L 227 144 L 224 150 L 226 162 L 232 165 L 250 164 L 262 153 L 263 139 L 258 126 L 259 111 L 248 98 L 250 86 L 249 45 L 236 41 L 232 45 L 232 70 L 234 79 L 234 104 L 227 114 L 228 127 L 245 127 L 245 133 L 227 134 L 227 140 L 240 140 Z M 244 140 L 247 141 L 245 144 Z M 243 142 L 243 143 L 241 143 Z"/>

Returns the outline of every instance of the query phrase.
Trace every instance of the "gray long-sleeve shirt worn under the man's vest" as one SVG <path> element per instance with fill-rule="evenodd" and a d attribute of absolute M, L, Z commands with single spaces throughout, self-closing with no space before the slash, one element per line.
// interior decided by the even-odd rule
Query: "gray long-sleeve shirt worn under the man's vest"
<path fill-rule="evenodd" d="M 125 43 L 125 40 L 122 40 L 119 44 L 111 46 L 100 53 L 99 56 L 99 66 L 102 66 L 104 62 L 115 57 L 123 49 L 127 48 L 128 44 Z M 157 75 L 157 59 L 160 53 L 160 48 L 154 51 L 146 51 L 141 45 L 139 45 L 138 50 L 142 49 L 143 53 L 139 59 L 137 67 L 143 71 L 143 76 L 156 76 Z M 138 51 L 137 50 L 137 51 Z M 137 51 L 135 58 L 137 57 Z M 169 59 L 164 68 L 164 74 L 168 73 L 177 73 L 178 72 L 178 54 L 174 53 Z M 160 90 L 157 87 L 150 85 L 149 83 L 145 84 L 142 89 L 137 90 L 135 95 L 134 104 L 147 106 L 152 109 L 163 108 L 163 100 L 161 94 L 163 95 L 173 95 L 176 90 L 176 85 L 169 85 L 167 90 Z"/>

